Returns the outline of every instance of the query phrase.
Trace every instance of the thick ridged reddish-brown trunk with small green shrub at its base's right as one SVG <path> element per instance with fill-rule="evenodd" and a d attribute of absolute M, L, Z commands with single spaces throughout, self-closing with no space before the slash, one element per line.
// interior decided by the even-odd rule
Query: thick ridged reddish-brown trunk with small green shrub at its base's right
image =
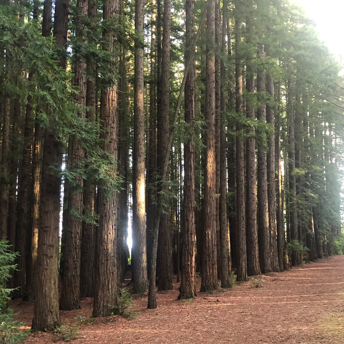
<path fill-rule="evenodd" d="M 116 20 L 118 17 L 118 0 L 109 0 L 104 4 L 103 19 Z M 104 50 L 113 53 L 115 51 L 116 37 L 112 31 L 103 31 L 106 41 Z M 115 63 L 112 65 L 115 68 Z M 115 80 L 114 80 L 115 82 Z M 101 91 L 100 121 L 102 130 L 100 138 L 105 140 L 102 147 L 109 152 L 116 162 L 118 160 L 118 104 L 117 84 Z M 116 165 L 112 173 L 117 177 Z M 95 274 L 95 296 L 93 305 L 93 317 L 111 315 L 112 309 L 117 304 L 117 192 L 106 191 L 99 187 L 99 227 L 97 229 L 97 259 Z"/>

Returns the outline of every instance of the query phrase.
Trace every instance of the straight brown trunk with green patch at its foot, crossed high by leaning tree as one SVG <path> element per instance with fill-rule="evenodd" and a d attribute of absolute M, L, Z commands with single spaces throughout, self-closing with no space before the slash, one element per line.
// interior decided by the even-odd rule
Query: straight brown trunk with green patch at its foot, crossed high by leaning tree
<path fill-rule="evenodd" d="M 194 0 L 185 1 L 185 61 L 193 52 L 194 40 Z M 194 59 L 193 59 L 194 60 Z M 187 75 L 185 83 L 185 123 L 190 126 L 189 137 L 184 144 L 184 198 L 182 228 L 182 268 L 178 299 L 191 299 L 196 296 L 195 254 L 195 145 L 193 143 L 193 124 L 195 120 L 195 69 Z"/>

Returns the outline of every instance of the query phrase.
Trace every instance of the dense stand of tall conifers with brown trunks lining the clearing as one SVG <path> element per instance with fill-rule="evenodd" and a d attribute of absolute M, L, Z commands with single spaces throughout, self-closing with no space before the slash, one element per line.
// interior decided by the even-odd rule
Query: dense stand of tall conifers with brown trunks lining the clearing
<path fill-rule="evenodd" d="M 2 1 L 0 235 L 32 329 L 342 254 L 342 66 L 287 1 Z M 62 169 L 62 165 L 65 168 Z M 62 237 L 60 196 L 63 182 Z M 59 295 L 58 285 L 62 293 Z"/>

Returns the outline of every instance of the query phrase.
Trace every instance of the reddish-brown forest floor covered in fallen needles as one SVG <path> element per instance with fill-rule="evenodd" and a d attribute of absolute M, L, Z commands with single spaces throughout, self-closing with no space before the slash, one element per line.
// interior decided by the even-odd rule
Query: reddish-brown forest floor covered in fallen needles
<path fill-rule="evenodd" d="M 147 309 L 147 295 L 136 297 L 137 317 L 131 320 L 92 319 L 93 299 L 86 298 L 81 309 L 61 311 L 61 321 L 79 327 L 74 344 L 344 343 L 344 256 L 254 278 L 265 282 L 255 288 L 250 279 L 229 290 L 198 293 L 194 301 L 178 301 L 179 283 L 174 283 L 173 290 L 158 292 L 157 309 Z M 11 307 L 20 311 L 18 320 L 31 325 L 32 303 L 13 301 Z M 33 333 L 23 343 L 63 340 Z"/>

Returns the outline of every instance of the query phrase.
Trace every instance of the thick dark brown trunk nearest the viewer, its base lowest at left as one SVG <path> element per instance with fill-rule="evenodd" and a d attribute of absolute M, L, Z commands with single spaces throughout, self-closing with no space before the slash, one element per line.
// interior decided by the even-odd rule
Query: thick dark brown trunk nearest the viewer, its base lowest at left
<path fill-rule="evenodd" d="M 68 3 L 55 5 L 54 36 L 59 47 L 67 40 Z M 62 54 L 63 55 L 63 54 Z M 61 55 L 61 56 L 62 56 Z M 65 60 L 60 58 L 65 68 Z M 54 123 L 50 123 L 54 128 Z M 60 325 L 58 312 L 58 241 L 60 226 L 62 143 L 53 129 L 44 129 L 42 180 L 40 184 L 39 236 L 37 244 L 37 293 L 32 330 L 53 331 Z"/>

